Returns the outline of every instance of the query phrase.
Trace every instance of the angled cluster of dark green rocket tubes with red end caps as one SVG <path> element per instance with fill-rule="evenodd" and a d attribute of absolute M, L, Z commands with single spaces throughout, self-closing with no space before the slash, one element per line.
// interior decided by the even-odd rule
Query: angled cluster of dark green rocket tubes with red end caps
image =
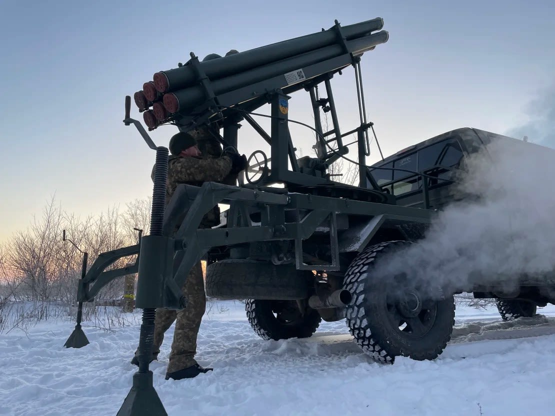
<path fill-rule="evenodd" d="M 143 89 L 134 94 L 135 104 L 144 113 L 149 130 L 153 130 L 198 112 L 201 107 L 206 109 L 207 102 L 225 105 L 218 99 L 222 94 L 235 92 L 233 105 L 258 98 L 270 92 L 267 88 L 260 89 L 260 83 L 268 80 L 273 81 L 272 87 L 287 87 L 287 93 L 291 93 L 304 88 L 309 79 L 337 72 L 348 65 L 344 61 L 335 62 L 334 58 L 346 53 L 352 58 L 360 57 L 387 42 L 388 33 L 381 30 L 383 26 L 382 18 L 344 27 L 336 21 L 330 29 L 321 32 L 216 59 L 199 62 L 191 53 L 191 59 L 184 65 L 157 72 L 152 81 L 145 82 Z M 376 31 L 380 32 L 372 33 Z M 327 65 L 316 65 L 319 63 Z M 316 73 L 307 68 L 310 65 L 317 68 Z"/>

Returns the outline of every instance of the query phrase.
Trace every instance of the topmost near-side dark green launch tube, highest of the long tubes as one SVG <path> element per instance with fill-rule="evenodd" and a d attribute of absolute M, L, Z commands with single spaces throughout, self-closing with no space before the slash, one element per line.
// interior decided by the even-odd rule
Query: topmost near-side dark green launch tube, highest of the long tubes
<path fill-rule="evenodd" d="M 364 37 L 370 32 L 379 31 L 384 27 L 381 17 L 369 21 L 341 27 L 346 40 Z M 245 50 L 226 57 L 207 60 L 200 65 L 210 80 L 229 77 L 232 74 L 260 67 L 261 65 L 278 62 L 296 55 L 320 49 L 338 42 L 338 34 L 334 28 L 327 31 L 312 33 L 294 39 L 284 40 L 263 47 Z M 169 69 L 154 74 L 154 85 L 160 93 L 190 87 L 196 82 L 194 69 L 189 65 Z"/>

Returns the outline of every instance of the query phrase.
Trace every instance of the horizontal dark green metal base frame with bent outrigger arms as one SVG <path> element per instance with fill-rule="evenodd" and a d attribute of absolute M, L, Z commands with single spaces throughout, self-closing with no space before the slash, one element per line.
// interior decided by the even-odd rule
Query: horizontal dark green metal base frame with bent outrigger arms
<path fill-rule="evenodd" d="M 157 282 L 159 278 L 141 276 L 140 264 L 173 263 L 173 268 L 164 276 L 167 291 L 164 301 L 154 307 L 181 308 L 180 288 L 193 266 L 215 246 L 231 246 L 259 241 L 290 240 L 295 243 L 295 263 L 299 270 L 339 270 L 339 253 L 361 251 L 376 231 L 386 222 L 391 224 L 429 224 L 433 211 L 411 207 L 380 204 L 377 202 L 339 199 L 310 194 L 283 194 L 282 190 L 271 191 L 245 189 L 236 186 L 206 182 L 202 186 L 179 185 L 165 211 L 163 235 L 153 239 L 144 236 L 137 245 L 102 253 L 90 267 L 85 278 L 79 283 L 78 301 L 92 301 L 98 291 L 115 278 L 139 271 L 141 281 Z M 233 206 L 235 212 L 259 209 L 263 217 L 260 225 L 241 225 L 200 229 L 200 221 L 206 212 L 224 203 Z M 271 209 L 270 209 L 271 208 Z M 285 220 L 285 211 L 295 213 L 294 221 Z M 303 212 L 303 214 L 301 214 Z M 180 218 L 185 217 L 183 221 Z M 355 233 L 346 230 L 337 232 L 337 214 L 364 217 L 364 227 Z M 170 236 L 171 230 L 181 222 L 178 231 Z M 233 223 L 233 219 L 231 220 Z M 332 263 L 305 264 L 302 262 L 302 242 L 309 239 L 318 227 L 327 224 L 332 247 Z M 145 247 L 145 243 L 147 246 Z M 138 261 L 129 267 L 105 271 L 122 257 L 138 254 Z M 143 273 L 159 274 L 158 268 L 145 267 Z M 148 284 L 148 283 L 147 283 Z M 90 287 L 92 285 L 92 287 Z M 150 285 L 149 285 L 150 286 Z M 153 307 L 156 303 L 150 296 L 159 293 L 156 287 L 142 291 L 145 296 L 137 296 L 137 307 Z"/>

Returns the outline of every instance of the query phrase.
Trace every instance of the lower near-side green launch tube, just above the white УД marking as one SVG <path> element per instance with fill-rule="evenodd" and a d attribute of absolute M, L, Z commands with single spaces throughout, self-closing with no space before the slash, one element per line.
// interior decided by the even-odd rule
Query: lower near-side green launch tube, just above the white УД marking
<path fill-rule="evenodd" d="M 349 52 L 352 54 L 360 55 L 367 50 L 373 49 L 376 45 L 387 42 L 387 39 L 388 33 L 386 31 L 381 31 L 362 38 L 347 41 L 347 47 Z M 301 55 L 296 55 L 295 57 L 281 60 L 280 62 L 265 65 L 264 67 L 254 68 L 243 73 L 215 80 L 211 83 L 211 87 L 216 95 L 225 94 L 232 90 L 276 77 L 277 75 L 302 69 L 307 65 L 324 62 L 325 60 L 338 57 L 339 55 L 345 53 L 346 52 L 342 45 L 330 45 Z M 288 84 L 284 77 L 283 87 L 286 87 L 287 85 Z M 245 99 L 248 98 L 253 97 L 245 97 Z M 165 108 L 170 111 L 170 113 L 191 109 L 204 102 L 204 89 L 200 86 L 195 86 L 181 89 L 173 93 L 166 93 L 163 96 L 163 100 Z"/>

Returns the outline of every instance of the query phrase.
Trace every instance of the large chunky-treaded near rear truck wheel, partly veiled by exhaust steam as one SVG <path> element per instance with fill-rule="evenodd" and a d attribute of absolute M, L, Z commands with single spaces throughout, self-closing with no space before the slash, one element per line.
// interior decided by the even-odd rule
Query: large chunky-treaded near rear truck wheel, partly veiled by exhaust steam
<path fill-rule="evenodd" d="M 376 260 L 410 242 L 389 241 L 367 247 L 349 266 L 344 287 L 352 293 L 346 307 L 350 333 L 366 354 L 393 363 L 396 356 L 435 359 L 451 339 L 453 296 L 423 297 L 410 276 L 376 276 Z M 395 293 L 395 296 L 393 296 Z"/>

